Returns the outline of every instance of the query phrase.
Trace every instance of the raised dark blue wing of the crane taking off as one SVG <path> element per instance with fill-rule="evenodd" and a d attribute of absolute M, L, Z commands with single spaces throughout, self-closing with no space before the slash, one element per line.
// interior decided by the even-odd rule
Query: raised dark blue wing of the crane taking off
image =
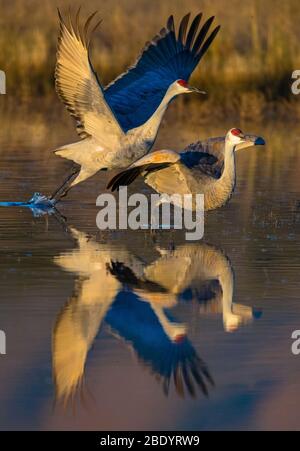
<path fill-rule="evenodd" d="M 200 28 L 198 14 L 187 33 L 190 14 L 181 20 L 178 35 L 173 16 L 143 49 L 136 63 L 105 89 L 105 97 L 124 130 L 138 127 L 156 111 L 171 83 L 188 81 L 216 37 L 220 26 L 210 34 L 214 17 Z"/>

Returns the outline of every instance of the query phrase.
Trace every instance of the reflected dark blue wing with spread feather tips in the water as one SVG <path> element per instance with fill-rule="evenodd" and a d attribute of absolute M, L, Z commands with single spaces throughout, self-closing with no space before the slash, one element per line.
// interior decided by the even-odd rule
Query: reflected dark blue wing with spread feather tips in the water
<path fill-rule="evenodd" d="M 106 322 L 117 335 L 130 344 L 138 357 L 162 384 L 165 395 L 174 380 L 179 396 L 184 392 L 196 397 L 198 392 L 207 395 L 214 381 L 206 364 L 197 355 L 187 337 L 171 340 L 165 333 L 153 304 L 145 302 L 131 292 L 118 296 L 106 315 Z M 175 318 L 165 315 L 170 324 Z"/>

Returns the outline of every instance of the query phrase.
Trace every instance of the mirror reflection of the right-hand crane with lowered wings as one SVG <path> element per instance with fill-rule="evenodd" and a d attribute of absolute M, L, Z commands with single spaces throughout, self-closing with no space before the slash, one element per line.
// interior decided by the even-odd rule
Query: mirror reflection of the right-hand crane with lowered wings
<path fill-rule="evenodd" d="M 222 251 L 201 243 L 161 254 L 146 269 L 150 280 L 182 300 L 198 301 L 201 313 L 221 313 L 228 332 L 252 320 L 252 308 L 233 303 L 233 270 Z"/>

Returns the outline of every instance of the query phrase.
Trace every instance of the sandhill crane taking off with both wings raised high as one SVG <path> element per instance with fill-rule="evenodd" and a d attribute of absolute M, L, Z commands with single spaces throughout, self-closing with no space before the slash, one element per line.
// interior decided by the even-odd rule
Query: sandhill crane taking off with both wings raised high
<path fill-rule="evenodd" d="M 127 167 L 151 149 L 170 101 L 179 94 L 203 93 L 189 86 L 188 79 L 220 29 L 208 35 L 214 20 L 210 17 L 197 33 L 202 18 L 198 14 L 187 32 L 188 14 L 176 35 L 170 16 L 166 28 L 146 44 L 136 63 L 103 89 L 89 55 L 94 16 L 82 29 L 79 11 L 75 25 L 70 17 L 66 25 L 59 12 L 56 90 L 75 118 L 82 140 L 55 151 L 76 163 L 53 193 L 51 199 L 56 201 L 99 170 Z"/>

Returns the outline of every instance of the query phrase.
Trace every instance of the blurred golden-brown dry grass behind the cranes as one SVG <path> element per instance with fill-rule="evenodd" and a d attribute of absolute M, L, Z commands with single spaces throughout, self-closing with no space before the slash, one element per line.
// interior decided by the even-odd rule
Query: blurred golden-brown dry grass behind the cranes
<path fill-rule="evenodd" d="M 58 0 L 66 11 L 80 2 Z M 86 0 L 83 13 L 100 10 L 103 25 L 93 40 L 92 60 L 104 83 L 134 62 L 146 40 L 173 13 L 216 15 L 221 33 L 194 74 L 218 114 L 261 118 L 291 101 L 291 73 L 300 68 L 299 0 Z M 0 68 L 7 93 L 18 99 L 52 95 L 58 33 L 53 0 L 0 0 Z M 295 103 L 296 104 L 296 103 Z M 299 109 L 299 108 L 297 108 Z"/>

